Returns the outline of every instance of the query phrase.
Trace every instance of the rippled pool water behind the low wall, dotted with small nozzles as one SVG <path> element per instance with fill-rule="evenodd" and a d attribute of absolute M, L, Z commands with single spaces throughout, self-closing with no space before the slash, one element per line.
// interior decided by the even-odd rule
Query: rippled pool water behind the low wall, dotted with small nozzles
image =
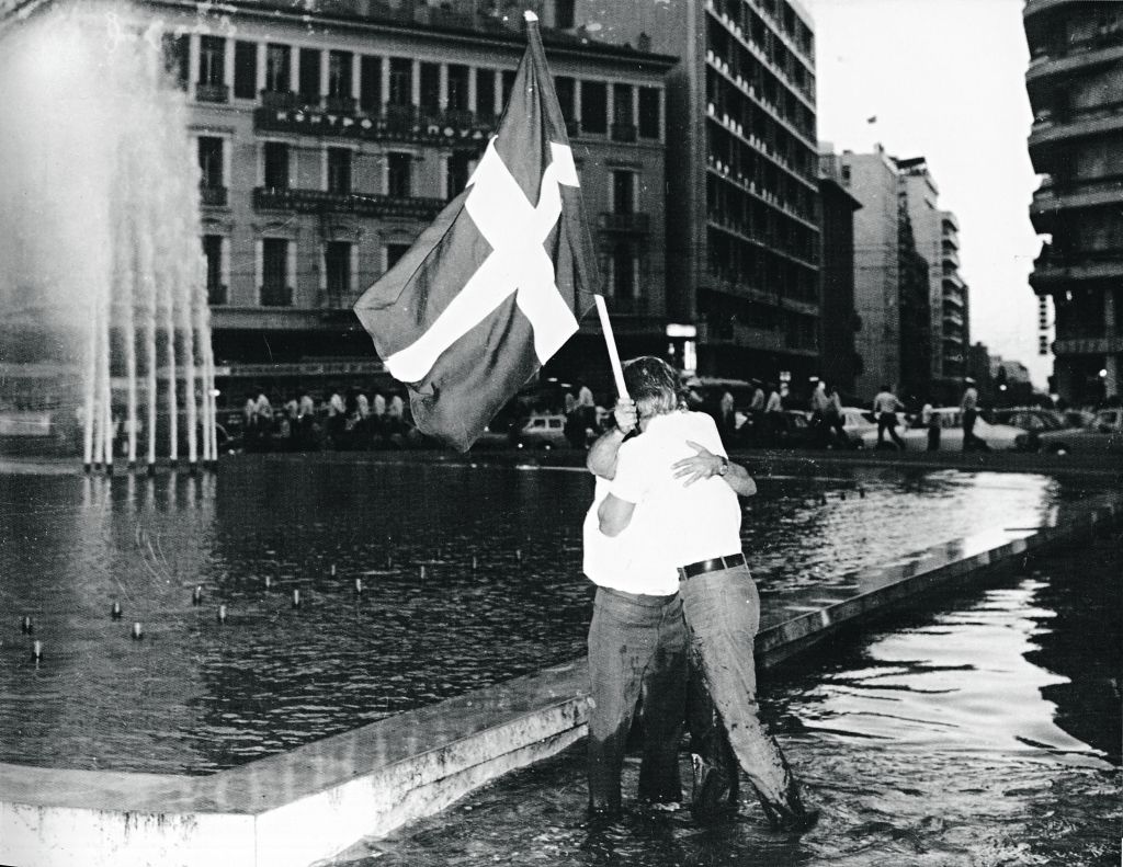
<path fill-rule="evenodd" d="M 747 501 L 768 600 L 1032 526 L 1065 494 L 1042 476 L 849 472 L 764 478 Z M 0 480 L 0 760 L 207 773 L 584 652 L 581 472 L 262 456 L 218 476 Z M 12 629 L 25 612 L 37 672 Z"/>

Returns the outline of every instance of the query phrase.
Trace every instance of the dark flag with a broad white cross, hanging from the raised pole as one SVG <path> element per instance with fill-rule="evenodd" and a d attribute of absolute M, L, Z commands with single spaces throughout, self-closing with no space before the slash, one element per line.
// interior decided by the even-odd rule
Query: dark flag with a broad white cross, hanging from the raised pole
<path fill-rule="evenodd" d="M 532 16 L 528 15 L 528 19 Z M 537 19 L 465 190 L 356 302 L 418 429 L 466 450 L 577 330 L 597 289 Z"/>

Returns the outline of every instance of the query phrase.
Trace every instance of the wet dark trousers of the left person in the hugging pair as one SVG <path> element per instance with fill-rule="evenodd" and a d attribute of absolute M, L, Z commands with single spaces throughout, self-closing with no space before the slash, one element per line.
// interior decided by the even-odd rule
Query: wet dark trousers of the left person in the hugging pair
<path fill-rule="evenodd" d="M 686 693 L 682 600 L 600 587 L 588 630 L 588 807 L 617 812 L 636 702 L 643 695 L 640 796 L 677 801 L 678 739 Z"/>

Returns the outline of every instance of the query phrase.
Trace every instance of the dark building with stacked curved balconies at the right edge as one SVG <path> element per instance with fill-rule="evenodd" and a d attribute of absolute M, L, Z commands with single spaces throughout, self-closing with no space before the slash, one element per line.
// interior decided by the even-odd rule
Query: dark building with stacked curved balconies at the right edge
<path fill-rule="evenodd" d="M 1042 176 L 1030 217 L 1048 238 L 1030 285 L 1053 301 L 1057 392 L 1095 403 L 1123 372 L 1123 6 L 1028 0 L 1023 22 Z"/>

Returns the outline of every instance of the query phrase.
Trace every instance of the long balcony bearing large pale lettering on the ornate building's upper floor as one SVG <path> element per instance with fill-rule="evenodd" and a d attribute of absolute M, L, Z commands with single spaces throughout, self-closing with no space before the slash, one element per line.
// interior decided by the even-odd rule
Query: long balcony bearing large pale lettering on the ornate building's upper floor
<path fill-rule="evenodd" d="M 300 102 L 299 97 L 293 99 Z M 258 133 L 295 133 L 417 144 L 475 142 L 481 149 L 486 145 L 494 127 L 495 118 L 491 115 L 462 110 L 423 111 L 417 106 L 385 104 L 378 113 L 358 112 L 354 110 L 354 106 L 348 111 L 332 111 L 303 104 L 283 108 L 263 104 L 254 111 L 254 128 Z"/>

